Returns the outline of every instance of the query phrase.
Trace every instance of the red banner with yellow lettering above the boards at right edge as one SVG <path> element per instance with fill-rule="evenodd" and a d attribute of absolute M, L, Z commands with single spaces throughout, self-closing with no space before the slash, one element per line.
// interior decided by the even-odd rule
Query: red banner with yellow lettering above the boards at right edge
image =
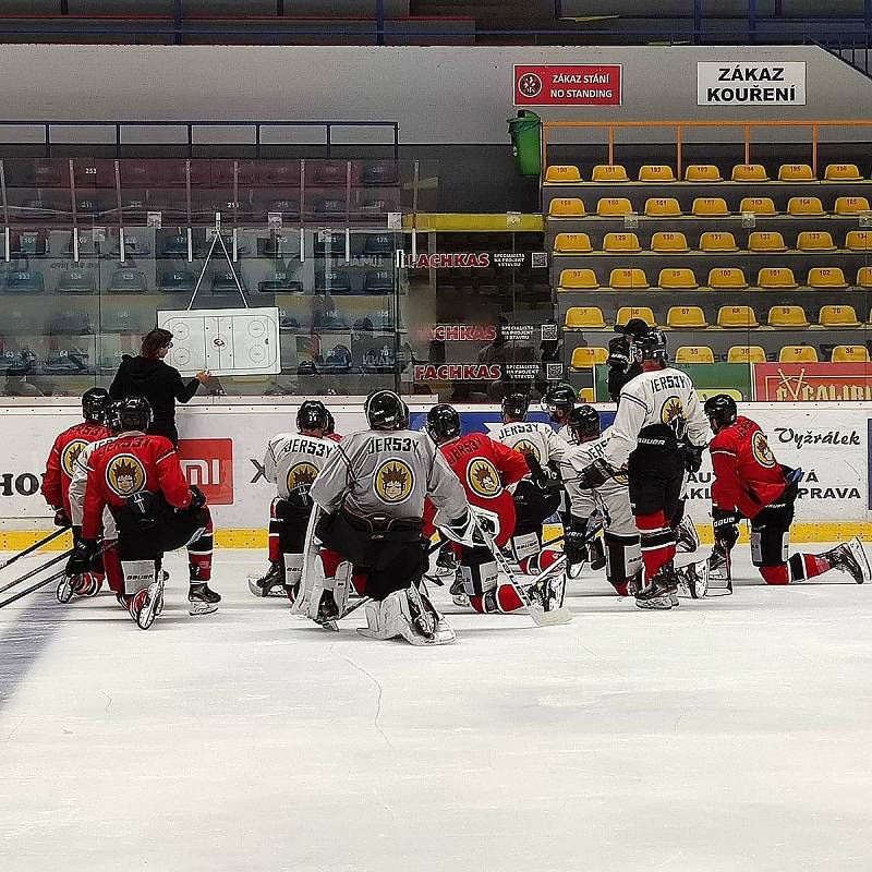
<path fill-rule="evenodd" d="M 772 402 L 872 400 L 872 364 L 758 363 L 754 399 Z"/>

